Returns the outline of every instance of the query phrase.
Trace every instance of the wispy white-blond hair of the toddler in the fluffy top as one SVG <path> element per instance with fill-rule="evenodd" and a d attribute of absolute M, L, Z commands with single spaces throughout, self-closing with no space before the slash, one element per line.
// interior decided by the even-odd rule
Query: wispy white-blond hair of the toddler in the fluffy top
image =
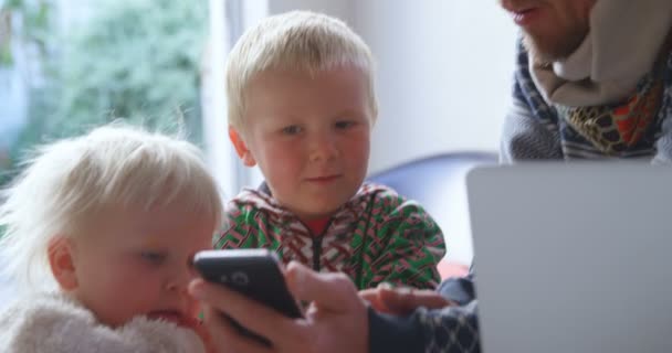
<path fill-rule="evenodd" d="M 55 289 L 51 239 L 73 236 L 87 216 L 115 206 L 151 210 L 179 202 L 185 217 L 210 216 L 213 233 L 220 226 L 216 181 L 199 149 L 185 140 L 115 124 L 36 152 L 0 205 L 0 257 L 19 289 Z"/>

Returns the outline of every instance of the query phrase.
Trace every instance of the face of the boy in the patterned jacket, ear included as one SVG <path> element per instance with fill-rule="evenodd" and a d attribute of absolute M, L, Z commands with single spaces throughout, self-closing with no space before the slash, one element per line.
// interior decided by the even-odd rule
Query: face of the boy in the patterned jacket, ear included
<path fill-rule="evenodd" d="M 269 71 L 250 83 L 245 104 L 243 133 L 231 130 L 231 138 L 245 165 L 259 164 L 283 206 L 308 221 L 353 197 L 369 160 L 367 76 L 353 67 L 314 76 Z"/>

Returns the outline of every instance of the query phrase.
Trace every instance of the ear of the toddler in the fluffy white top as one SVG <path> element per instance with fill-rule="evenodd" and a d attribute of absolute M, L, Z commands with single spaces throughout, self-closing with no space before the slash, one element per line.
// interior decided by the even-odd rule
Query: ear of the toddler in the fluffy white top
<path fill-rule="evenodd" d="M 49 265 L 54 278 L 65 291 L 77 288 L 73 250 L 73 244 L 67 237 L 56 236 L 49 242 Z"/>

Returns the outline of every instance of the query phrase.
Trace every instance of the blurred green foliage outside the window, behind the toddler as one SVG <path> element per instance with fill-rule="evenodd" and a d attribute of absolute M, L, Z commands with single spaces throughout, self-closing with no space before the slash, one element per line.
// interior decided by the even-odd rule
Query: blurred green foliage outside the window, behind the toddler
<path fill-rule="evenodd" d="M 179 129 L 192 141 L 201 140 L 199 81 L 207 2 L 88 2 L 91 18 L 65 29 L 52 21 L 57 11 L 50 11 L 48 0 L 10 0 L 0 7 L 28 17 L 40 4 L 40 20 L 23 24 L 44 53 L 39 58 L 43 83 L 31 85 L 28 122 L 10 151 L 11 171 L 0 171 L 0 185 L 15 173 L 15 161 L 27 148 L 113 119 L 169 132 Z"/>

